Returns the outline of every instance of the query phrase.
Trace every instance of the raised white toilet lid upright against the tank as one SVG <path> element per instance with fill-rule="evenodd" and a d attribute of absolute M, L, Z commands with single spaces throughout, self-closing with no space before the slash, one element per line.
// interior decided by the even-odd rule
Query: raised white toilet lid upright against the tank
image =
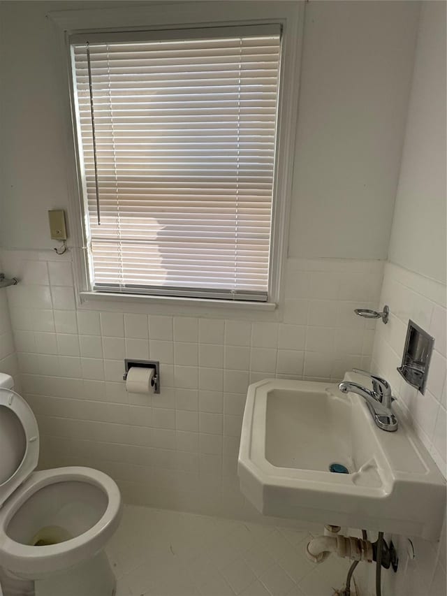
<path fill-rule="evenodd" d="M 27 402 L 0 388 L 0 507 L 36 469 L 39 431 Z"/>

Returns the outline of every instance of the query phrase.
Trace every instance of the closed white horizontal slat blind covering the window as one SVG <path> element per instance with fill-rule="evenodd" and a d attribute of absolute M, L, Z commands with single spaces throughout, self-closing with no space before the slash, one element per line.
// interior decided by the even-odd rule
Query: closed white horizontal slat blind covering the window
<path fill-rule="evenodd" d="M 92 288 L 267 300 L 279 32 L 92 39 L 71 45 Z"/>

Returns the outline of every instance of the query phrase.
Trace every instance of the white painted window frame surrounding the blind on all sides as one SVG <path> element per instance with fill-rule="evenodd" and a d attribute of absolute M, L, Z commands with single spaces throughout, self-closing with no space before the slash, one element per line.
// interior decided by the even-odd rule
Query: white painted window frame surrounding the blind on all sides
<path fill-rule="evenodd" d="M 288 219 L 291 206 L 295 131 L 298 112 L 300 54 L 303 29 L 303 1 L 225 3 L 180 1 L 149 3 L 92 10 L 63 10 L 48 13 L 59 45 L 60 97 L 65 118 L 65 149 L 68 178 L 68 214 L 71 224 L 73 269 L 78 303 L 89 300 L 200 305 L 207 307 L 242 307 L 244 310 L 274 310 L 281 300 L 288 247 Z M 228 19 L 231 15 L 231 19 Z M 256 17 L 254 17 L 256 15 Z M 281 64 L 277 122 L 277 153 L 274 170 L 274 196 L 270 238 L 268 301 L 225 300 L 157 296 L 148 294 L 98 292 L 91 289 L 86 229 L 88 214 L 84 209 L 81 163 L 78 157 L 78 130 L 75 117 L 74 85 L 71 65 L 71 37 L 88 33 L 119 31 L 157 31 L 160 29 L 200 29 L 204 27 L 240 27 L 278 24 L 282 30 Z"/>

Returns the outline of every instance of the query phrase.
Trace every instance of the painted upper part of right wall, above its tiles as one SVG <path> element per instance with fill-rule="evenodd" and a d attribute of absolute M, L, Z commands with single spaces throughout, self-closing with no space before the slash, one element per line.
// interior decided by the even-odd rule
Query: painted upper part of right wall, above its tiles
<path fill-rule="evenodd" d="M 446 283 L 446 3 L 423 3 L 390 261 Z"/>

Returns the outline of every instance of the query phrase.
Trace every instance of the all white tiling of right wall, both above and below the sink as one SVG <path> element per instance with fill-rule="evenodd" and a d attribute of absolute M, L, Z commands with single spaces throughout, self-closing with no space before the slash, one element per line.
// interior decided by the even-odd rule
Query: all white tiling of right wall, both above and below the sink
<path fill-rule="evenodd" d="M 390 307 L 390 321 L 378 324 L 374 341 L 372 371 L 386 377 L 416 433 L 446 475 L 446 286 L 421 275 L 386 263 L 381 304 Z M 400 377 L 406 327 L 411 319 L 434 337 L 434 352 L 425 395 Z M 423 503 L 421 503 L 423 507 Z M 386 539 L 391 537 L 386 536 Z M 446 522 L 441 539 L 429 543 L 411 538 L 416 558 L 409 560 L 406 537 L 393 537 L 400 553 L 397 574 L 383 572 L 383 593 L 395 596 L 445 596 Z M 369 590 L 374 594 L 374 574 L 369 573 Z"/>

